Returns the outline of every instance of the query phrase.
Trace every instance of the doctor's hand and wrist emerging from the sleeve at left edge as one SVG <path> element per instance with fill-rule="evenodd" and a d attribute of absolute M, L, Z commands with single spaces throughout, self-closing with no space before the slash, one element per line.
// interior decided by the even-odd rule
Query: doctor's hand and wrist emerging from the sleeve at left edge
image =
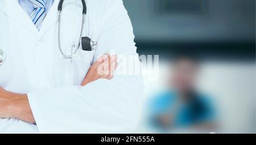
<path fill-rule="evenodd" d="M 0 118 L 18 118 L 35 123 L 27 95 L 9 92 L 0 87 Z"/>

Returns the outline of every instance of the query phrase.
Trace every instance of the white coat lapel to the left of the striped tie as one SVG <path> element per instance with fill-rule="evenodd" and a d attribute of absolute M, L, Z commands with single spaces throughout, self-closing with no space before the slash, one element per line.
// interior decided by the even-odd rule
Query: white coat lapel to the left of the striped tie
<path fill-rule="evenodd" d="M 28 16 L 28 14 L 19 5 L 18 0 L 6 1 L 6 5 L 3 11 L 7 16 L 9 16 L 10 18 L 13 18 L 16 22 L 23 25 L 30 31 L 38 33 L 38 29 L 36 29 L 34 23 Z"/>

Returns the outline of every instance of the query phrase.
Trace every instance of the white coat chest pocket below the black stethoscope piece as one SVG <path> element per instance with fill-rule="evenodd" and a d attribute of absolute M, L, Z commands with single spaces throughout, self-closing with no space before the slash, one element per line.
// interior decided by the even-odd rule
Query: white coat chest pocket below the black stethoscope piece
<path fill-rule="evenodd" d="M 85 51 L 85 50 L 77 50 L 76 54 L 73 56 L 73 67 L 75 74 L 75 84 L 80 85 L 82 80 L 84 80 L 87 72 L 92 66 L 94 50 Z"/>

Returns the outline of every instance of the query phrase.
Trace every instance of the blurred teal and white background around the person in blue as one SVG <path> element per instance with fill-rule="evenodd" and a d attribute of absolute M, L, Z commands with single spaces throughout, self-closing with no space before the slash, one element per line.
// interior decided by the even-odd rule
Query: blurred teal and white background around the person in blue
<path fill-rule="evenodd" d="M 172 58 L 200 58 L 196 89 L 214 100 L 216 133 L 255 133 L 255 0 L 123 0 L 140 55 L 159 55 L 159 78 L 145 76 L 148 100 L 170 89 Z M 135 133 L 159 133 L 144 109 Z M 160 131 L 160 133 L 166 131 Z M 201 133 L 170 129 L 168 133 Z M 209 132 L 207 132 L 209 133 Z"/>

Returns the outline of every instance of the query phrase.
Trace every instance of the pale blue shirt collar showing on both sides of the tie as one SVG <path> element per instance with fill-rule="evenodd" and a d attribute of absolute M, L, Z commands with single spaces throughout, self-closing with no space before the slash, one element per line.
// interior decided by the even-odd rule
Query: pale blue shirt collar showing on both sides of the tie
<path fill-rule="evenodd" d="M 52 6 L 54 0 L 46 0 L 46 14 Z M 28 15 L 34 10 L 34 7 L 28 0 L 19 0 L 19 5 L 27 12 Z"/>

